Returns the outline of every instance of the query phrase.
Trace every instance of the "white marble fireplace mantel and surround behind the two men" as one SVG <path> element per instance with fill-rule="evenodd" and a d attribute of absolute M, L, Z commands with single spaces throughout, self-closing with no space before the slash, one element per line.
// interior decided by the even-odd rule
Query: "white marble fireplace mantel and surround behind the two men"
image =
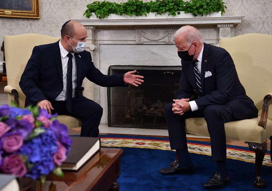
<path fill-rule="evenodd" d="M 194 17 L 169 19 L 74 19 L 88 32 L 87 49 L 95 66 L 108 74 L 110 65 L 181 65 L 174 45 L 174 32 L 184 25 L 193 25 L 208 44 L 219 45 L 221 38 L 234 36 L 234 26 L 243 16 Z M 85 96 L 103 107 L 102 124 L 107 124 L 107 88 L 84 80 Z"/>

